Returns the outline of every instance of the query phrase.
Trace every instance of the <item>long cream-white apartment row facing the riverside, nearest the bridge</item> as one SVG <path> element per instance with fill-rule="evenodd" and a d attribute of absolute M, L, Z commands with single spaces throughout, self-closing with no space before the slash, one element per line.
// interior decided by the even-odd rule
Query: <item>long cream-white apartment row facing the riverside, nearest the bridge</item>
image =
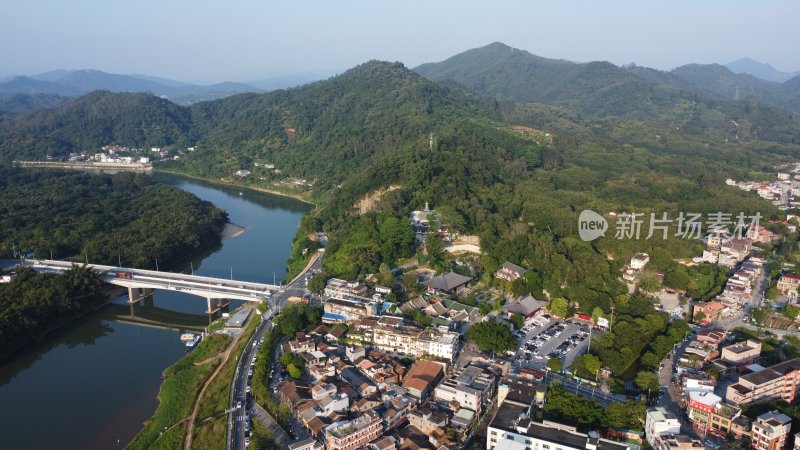
<path fill-rule="evenodd" d="M 386 352 L 411 356 L 430 355 L 452 361 L 458 354 L 459 334 L 423 328 L 402 317 L 364 317 L 348 331 L 352 340 Z"/>

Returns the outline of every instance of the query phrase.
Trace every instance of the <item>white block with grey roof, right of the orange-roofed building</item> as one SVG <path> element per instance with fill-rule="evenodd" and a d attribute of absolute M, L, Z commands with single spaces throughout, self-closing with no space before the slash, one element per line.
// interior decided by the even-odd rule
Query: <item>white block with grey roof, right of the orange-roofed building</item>
<path fill-rule="evenodd" d="M 497 389 L 497 377 L 488 369 L 467 366 L 436 386 L 434 396 L 446 402 L 458 402 L 461 408 L 480 414 Z"/>

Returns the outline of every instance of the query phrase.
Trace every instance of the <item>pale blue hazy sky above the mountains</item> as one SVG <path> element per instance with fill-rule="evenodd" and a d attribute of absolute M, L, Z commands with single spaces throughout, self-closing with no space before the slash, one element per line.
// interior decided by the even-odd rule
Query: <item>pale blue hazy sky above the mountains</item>
<path fill-rule="evenodd" d="M 800 0 L 2 0 L 0 75 L 185 81 L 413 67 L 500 41 L 550 58 L 671 69 L 749 56 L 800 70 Z"/>

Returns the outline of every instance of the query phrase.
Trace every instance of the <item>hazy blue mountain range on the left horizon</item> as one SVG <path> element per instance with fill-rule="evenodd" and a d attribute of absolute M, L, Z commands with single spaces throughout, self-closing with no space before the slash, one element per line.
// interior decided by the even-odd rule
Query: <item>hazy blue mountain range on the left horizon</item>
<path fill-rule="evenodd" d="M 261 92 L 243 83 L 199 86 L 146 75 L 119 75 L 99 70 L 54 70 L 34 77 L 16 77 L 0 82 L 0 95 L 57 94 L 77 96 L 92 91 L 150 92 L 179 104 L 215 100 L 243 92 Z"/>

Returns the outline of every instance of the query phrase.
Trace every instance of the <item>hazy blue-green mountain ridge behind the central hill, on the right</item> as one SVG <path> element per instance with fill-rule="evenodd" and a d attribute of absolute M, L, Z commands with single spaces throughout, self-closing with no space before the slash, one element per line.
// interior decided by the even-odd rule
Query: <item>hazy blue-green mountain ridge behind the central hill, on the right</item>
<path fill-rule="evenodd" d="M 760 113 L 752 115 L 752 108 L 772 116 L 758 126 L 761 134 L 756 136 L 786 139 L 800 129 L 797 117 L 777 109 L 790 107 L 790 92 L 784 92 L 777 83 L 719 68 L 733 79 L 752 79 L 754 85 L 772 86 L 777 90 L 764 88 L 757 96 L 742 91 L 742 99 L 757 100 L 761 104 L 733 102 L 735 89 L 730 91 L 727 86 L 701 82 L 706 75 L 694 77 L 689 76 L 688 71 L 670 73 L 635 66 L 622 68 L 608 62 L 553 60 L 499 42 L 467 50 L 442 62 L 423 64 L 414 70 L 429 79 L 453 80 L 491 97 L 544 103 L 578 112 L 588 119 L 643 120 L 705 131 L 709 125 L 706 119 L 721 114 L 727 123 L 713 125 L 714 131 L 719 133 L 729 130 L 731 119 L 758 122 Z M 707 69 L 703 67 L 702 71 L 706 73 Z M 791 131 L 787 133 L 786 130 Z"/>

